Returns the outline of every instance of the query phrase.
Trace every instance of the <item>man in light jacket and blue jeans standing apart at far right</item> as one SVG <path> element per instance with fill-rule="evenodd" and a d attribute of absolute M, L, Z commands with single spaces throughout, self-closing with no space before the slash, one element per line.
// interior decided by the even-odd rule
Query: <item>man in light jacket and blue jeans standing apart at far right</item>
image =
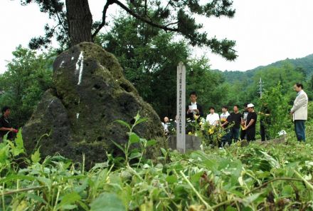
<path fill-rule="evenodd" d="M 297 92 L 294 105 L 290 110 L 290 114 L 293 116 L 295 123 L 295 132 L 298 141 L 305 141 L 305 120 L 307 120 L 307 93 L 303 90 L 302 83 L 296 83 L 294 90 Z"/>

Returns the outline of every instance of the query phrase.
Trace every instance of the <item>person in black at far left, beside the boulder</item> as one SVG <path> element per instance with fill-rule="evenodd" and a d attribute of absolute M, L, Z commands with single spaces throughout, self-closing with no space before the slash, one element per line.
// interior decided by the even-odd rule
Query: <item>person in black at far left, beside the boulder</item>
<path fill-rule="evenodd" d="M 0 140 L 3 140 L 4 135 L 8 133 L 7 138 L 11 140 L 14 138 L 14 133 L 17 133 L 17 130 L 12 128 L 11 123 L 9 121 L 9 115 L 11 113 L 9 106 L 4 106 L 2 108 L 2 116 L 0 118 Z"/>

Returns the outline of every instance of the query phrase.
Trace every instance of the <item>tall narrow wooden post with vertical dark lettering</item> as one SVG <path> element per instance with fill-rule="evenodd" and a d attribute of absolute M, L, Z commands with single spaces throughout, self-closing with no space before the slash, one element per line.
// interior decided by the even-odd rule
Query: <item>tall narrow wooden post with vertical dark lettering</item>
<path fill-rule="evenodd" d="M 180 62 L 177 66 L 177 124 L 176 149 L 186 152 L 186 67 Z"/>

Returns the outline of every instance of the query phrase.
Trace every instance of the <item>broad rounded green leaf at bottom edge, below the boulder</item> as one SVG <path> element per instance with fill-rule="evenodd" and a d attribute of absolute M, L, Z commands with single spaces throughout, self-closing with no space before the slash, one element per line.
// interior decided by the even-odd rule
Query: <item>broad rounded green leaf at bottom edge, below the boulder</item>
<path fill-rule="evenodd" d="M 120 197 L 112 192 L 103 192 L 90 204 L 90 211 L 125 211 Z"/>

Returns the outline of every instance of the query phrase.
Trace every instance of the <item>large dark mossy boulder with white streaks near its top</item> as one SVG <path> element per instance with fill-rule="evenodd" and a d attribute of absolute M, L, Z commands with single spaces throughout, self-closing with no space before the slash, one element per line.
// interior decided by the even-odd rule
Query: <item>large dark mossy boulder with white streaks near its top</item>
<path fill-rule="evenodd" d="M 61 53 L 53 64 L 53 81 L 55 88 L 44 93 L 23 127 L 28 153 L 40 145 L 43 156 L 60 153 L 82 161 L 85 154 L 87 166 L 101 163 L 106 151 L 120 154 L 112 140 L 120 144 L 128 140 L 127 128 L 115 120 L 132 124 L 137 112 L 148 120 L 134 132 L 164 147 L 157 113 L 124 78 L 115 56 L 100 46 L 80 43 Z"/>

